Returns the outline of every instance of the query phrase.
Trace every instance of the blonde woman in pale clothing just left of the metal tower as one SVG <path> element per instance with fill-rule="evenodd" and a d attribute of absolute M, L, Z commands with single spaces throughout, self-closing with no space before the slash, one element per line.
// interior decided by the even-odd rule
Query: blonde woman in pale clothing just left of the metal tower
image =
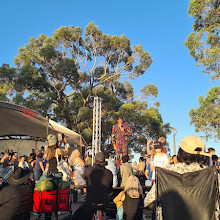
<path fill-rule="evenodd" d="M 69 164 L 74 169 L 75 174 L 75 185 L 85 185 L 86 182 L 82 178 L 82 175 L 85 171 L 85 162 L 80 157 L 80 152 L 78 149 L 75 149 L 70 157 L 69 157 Z"/>

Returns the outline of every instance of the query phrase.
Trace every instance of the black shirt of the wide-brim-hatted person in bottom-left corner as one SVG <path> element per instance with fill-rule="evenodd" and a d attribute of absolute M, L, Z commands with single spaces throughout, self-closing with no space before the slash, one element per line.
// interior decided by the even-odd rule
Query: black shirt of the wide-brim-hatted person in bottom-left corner
<path fill-rule="evenodd" d="M 0 191 L 0 220 L 29 220 L 33 186 L 6 186 Z"/>

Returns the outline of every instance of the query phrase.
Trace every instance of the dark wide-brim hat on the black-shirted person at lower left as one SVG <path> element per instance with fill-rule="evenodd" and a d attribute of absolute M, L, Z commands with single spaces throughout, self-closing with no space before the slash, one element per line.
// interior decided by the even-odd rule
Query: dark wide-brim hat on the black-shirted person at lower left
<path fill-rule="evenodd" d="M 21 185 L 23 184 L 31 175 L 30 170 L 24 170 L 21 167 L 16 168 L 8 178 L 9 185 Z"/>

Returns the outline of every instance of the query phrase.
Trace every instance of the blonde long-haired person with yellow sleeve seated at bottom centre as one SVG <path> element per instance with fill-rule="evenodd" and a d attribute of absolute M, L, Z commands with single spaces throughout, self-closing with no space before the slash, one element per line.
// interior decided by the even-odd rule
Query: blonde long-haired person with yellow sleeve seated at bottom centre
<path fill-rule="evenodd" d="M 117 206 L 116 219 L 140 220 L 143 218 L 143 211 L 139 209 L 143 206 L 143 190 L 136 176 L 131 175 L 121 191 L 115 198 Z"/>

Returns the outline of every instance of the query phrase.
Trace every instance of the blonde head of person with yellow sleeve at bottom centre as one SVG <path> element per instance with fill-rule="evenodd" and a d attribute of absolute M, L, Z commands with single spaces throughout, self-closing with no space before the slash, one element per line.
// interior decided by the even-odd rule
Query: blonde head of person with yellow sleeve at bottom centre
<path fill-rule="evenodd" d="M 130 197 L 139 197 L 140 195 L 143 196 L 143 190 L 138 178 L 134 175 L 129 176 L 125 188 L 125 193 L 127 193 Z"/>

